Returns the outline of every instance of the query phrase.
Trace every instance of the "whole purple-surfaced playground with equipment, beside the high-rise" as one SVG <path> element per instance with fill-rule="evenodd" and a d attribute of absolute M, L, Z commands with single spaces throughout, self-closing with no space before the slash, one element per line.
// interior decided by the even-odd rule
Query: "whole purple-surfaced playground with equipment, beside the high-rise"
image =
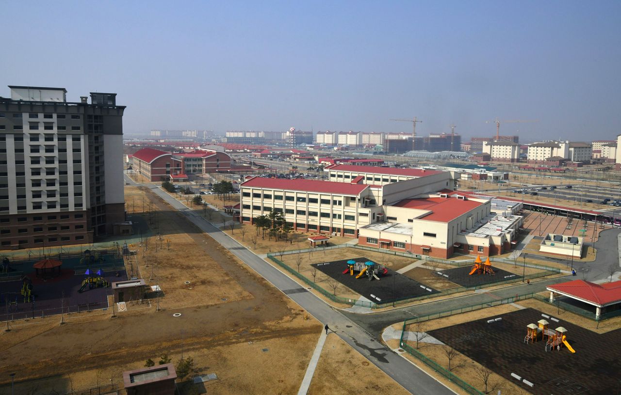
<path fill-rule="evenodd" d="M 2 282 L 0 321 L 107 308 L 111 282 L 127 280 L 116 254 L 11 262 Z"/>

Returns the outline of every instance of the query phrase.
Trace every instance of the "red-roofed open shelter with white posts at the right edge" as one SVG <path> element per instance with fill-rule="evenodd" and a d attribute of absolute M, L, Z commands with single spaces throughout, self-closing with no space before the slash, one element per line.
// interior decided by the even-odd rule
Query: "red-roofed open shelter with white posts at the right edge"
<path fill-rule="evenodd" d="M 596 284 L 573 280 L 547 286 L 546 290 L 550 291 L 551 303 L 554 302 L 556 294 L 594 306 L 596 320 L 599 320 L 602 314 L 621 310 L 621 281 Z"/>

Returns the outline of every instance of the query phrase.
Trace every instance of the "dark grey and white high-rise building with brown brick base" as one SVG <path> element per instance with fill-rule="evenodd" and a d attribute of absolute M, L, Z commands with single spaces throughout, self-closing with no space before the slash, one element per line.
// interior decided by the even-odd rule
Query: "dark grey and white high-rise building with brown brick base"
<path fill-rule="evenodd" d="M 88 243 L 125 220 L 123 112 L 116 94 L 64 88 L 0 97 L 0 248 Z"/>

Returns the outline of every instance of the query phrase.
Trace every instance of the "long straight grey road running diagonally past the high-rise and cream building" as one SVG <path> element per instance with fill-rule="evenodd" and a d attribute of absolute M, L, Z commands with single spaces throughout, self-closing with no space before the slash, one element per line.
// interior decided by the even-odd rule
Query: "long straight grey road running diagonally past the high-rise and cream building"
<path fill-rule="evenodd" d="M 126 179 L 126 182 L 135 185 L 134 182 L 129 179 Z M 385 347 L 377 340 L 373 339 L 371 335 L 363 331 L 360 326 L 356 325 L 340 311 L 328 306 L 312 293 L 303 290 L 299 284 L 291 280 L 287 275 L 268 264 L 268 262 L 265 262 L 265 260 L 258 257 L 253 252 L 248 251 L 246 247 L 231 239 L 227 234 L 222 233 L 220 229 L 215 228 L 215 226 L 208 223 L 200 215 L 189 210 L 183 203 L 156 186 L 150 185 L 149 187 L 156 195 L 170 203 L 173 208 L 181 211 L 188 220 L 199 226 L 205 233 L 213 237 L 215 241 L 222 244 L 222 246 L 229 249 L 230 252 L 247 264 L 248 267 L 255 270 L 261 277 L 283 291 L 283 293 L 302 308 L 306 309 L 306 311 L 312 314 L 317 320 L 329 324 L 330 329 L 333 329 L 341 339 L 345 340 L 351 347 L 355 348 L 374 365 L 391 376 L 397 383 L 406 388 L 407 391 L 417 395 L 454 394 L 453 391 L 446 388 L 443 384 L 438 383 L 438 381 L 412 365 L 405 358 L 400 357 L 388 347 Z M 291 293 L 291 291 L 294 291 L 294 293 Z"/>

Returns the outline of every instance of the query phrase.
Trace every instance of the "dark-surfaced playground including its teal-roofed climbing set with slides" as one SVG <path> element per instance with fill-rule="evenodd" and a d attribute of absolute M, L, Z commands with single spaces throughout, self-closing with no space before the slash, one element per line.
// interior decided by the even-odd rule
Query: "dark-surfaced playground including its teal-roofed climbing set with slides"
<path fill-rule="evenodd" d="M 370 264 L 367 265 L 367 262 L 370 262 Z M 376 269 L 376 272 L 369 276 L 368 272 L 371 272 L 372 269 L 367 268 L 369 266 L 374 267 L 375 265 L 378 265 L 379 269 Z M 337 282 L 355 291 L 355 293 L 376 302 L 381 301 L 385 303 L 392 300 L 403 300 L 438 293 L 437 290 L 394 272 L 394 270 L 377 264 L 366 257 L 322 262 L 320 264 L 312 264 L 312 267 L 337 280 Z M 371 295 L 376 296 L 376 298 Z"/>

